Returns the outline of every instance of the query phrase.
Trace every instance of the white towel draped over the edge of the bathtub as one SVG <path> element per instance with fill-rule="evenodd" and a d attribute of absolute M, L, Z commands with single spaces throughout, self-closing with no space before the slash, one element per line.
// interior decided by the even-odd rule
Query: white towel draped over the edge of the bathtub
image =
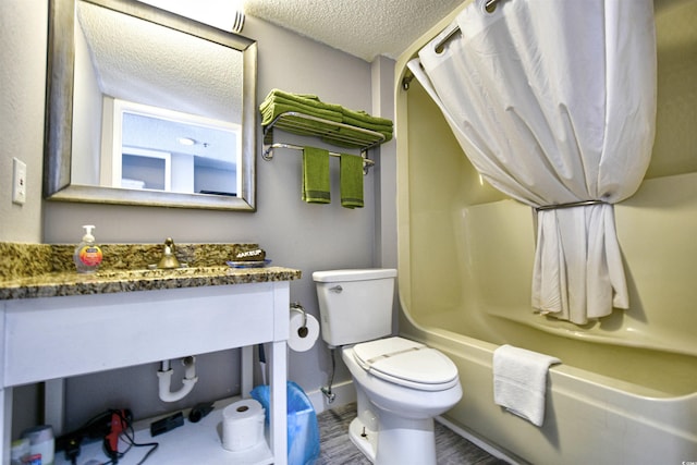
<path fill-rule="evenodd" d="M 504 344 L 493 351 L 493 402 L 535 426 L 545 423 L 547 371 L 561 360 Z"/>

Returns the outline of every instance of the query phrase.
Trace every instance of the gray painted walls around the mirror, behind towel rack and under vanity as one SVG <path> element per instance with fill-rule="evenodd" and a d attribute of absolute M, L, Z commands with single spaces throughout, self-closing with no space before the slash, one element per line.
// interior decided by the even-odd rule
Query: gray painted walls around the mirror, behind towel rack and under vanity
<path fill-rule="evenodd" d="M 371 154 L 378 167 L 365 179 L 363 209 L 341 207 L 338 160 L 332 161 L 333 203 L 304 204 L 299 199 L 299 152 L 284 149 L 277 150 L 271 162 L 257 157 L 255 213 L 44 201 L 46 1 L 3 0 L 0 19 L 0 241 L 75 243 L 82 234 L 81 225 L 89 223 L 96 224 L 100 243 L 161 242 L 167 236 L 175 242 L 257 242 L 274 265 L 302 270 L 302 280 L 291 284 L 291 301 L 301 302 L 315 316 L 318 309 L 313 271 L 396 265 L 393 143 Z M 367 63 L 254 17 L 247 19 L 244 34 L 258 40 L 258 102 L 278 87 L 392 118 L 391 60 L 380 58 Z M 296 136 L 284 140 L 321 146 Z M 21 158 L 28 168 L 29 195 L 24 206 L 11 201 L 12 157 Z M 308 392 L 326 384 L 331 364 L 321 340 L 311 351 L 291 353 L 289 357 L 290 379 Z M 136 417 L 146 417 L 234 395 L 240 390 L 239 351 L 199 356 L 199 382 L 189 397 L 179 403 L 159 401 L 157 368 L 152 364 L 68 380 L 68 428 L 80 426 L 107 407 L 130 407 Z M 339 362 L 335 382 L 347 379 Z M 30 404 L 37 392 L 33 387 L 16 390 L 15 431 L 26 426 L 23 421 L 32 423 L 34 417 L 22 420 L 22 413 L 36 409 Z"/>

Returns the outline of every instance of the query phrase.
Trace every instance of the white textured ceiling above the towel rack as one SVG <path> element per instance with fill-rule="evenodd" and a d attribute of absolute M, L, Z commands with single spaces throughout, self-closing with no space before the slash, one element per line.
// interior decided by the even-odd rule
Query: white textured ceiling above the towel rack
<path fill-rule="evenodd" d="M 372 61 L 396 59 L 463 0 L 244 0 L 245 13 Z M 244 33 L 243 33 L 244 34 Z"/>

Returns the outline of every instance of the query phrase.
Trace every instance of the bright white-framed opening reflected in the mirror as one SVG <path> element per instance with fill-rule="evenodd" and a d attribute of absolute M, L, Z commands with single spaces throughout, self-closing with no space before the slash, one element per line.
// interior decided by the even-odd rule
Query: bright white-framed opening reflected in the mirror
<path fill-rule="evenodd" d="M 101 186 L 236 195 L 239 124 L 122 100 L 113 109 L 113 124 L 102 124 Z M 142 157 L 160 159 L 155 179 L 138 172 Z M 81 172 L 76 160 L 73 174 Z"/>

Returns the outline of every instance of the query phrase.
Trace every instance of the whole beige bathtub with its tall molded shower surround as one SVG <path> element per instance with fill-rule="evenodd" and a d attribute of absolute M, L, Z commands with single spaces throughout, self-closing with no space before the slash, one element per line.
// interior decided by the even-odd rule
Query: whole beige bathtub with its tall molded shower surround
<path fill-rule="evenodd" d="M 457 12 L 453 12 L 454 16 Z M 697 463 L 697 2 L 657 3 L 657 137 L 639 191 L 615 206 L 629 309 L 585 326 L 530 306 L 535 218 L 482 183 L 436 105 L 396 62 L 400 333 L 443 351 L 462 401 L 445 419 L 521 462 Z M 559 357 L 541 428 L 493 403 L 492 353 Z"/>

